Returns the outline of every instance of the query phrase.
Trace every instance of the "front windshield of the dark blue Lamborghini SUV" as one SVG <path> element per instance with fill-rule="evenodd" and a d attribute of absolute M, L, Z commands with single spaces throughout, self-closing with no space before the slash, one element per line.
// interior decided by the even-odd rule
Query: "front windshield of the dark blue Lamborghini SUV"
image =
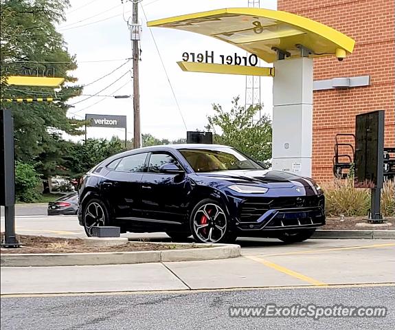
<path fill-rule="evenodd" d="M 180 153 L 195 172 L 217 170 L 256 170 L 261 166 L 242 155 L 234 148 L 180 149 Z"/>

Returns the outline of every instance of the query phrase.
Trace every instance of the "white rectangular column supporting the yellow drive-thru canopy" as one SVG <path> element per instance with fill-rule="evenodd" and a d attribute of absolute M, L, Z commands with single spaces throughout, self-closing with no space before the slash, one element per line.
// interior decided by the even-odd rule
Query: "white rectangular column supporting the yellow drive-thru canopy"
<path fill-rule="evenodd" d="M 273 170 L 311 177 L 313 58 L 276 61 L 273 80 Z"/>

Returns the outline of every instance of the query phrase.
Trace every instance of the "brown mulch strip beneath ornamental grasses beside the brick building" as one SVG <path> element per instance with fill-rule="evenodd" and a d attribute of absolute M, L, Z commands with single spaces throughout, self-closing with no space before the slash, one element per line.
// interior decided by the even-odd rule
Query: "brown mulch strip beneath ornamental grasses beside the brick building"
<path fill-rule="evenodd" d="M 326 218 L 326 225 L 319 230 L 395 230 L 395 217 L 385 218 L 382 224 L 372 225 L 366 220 L 367 217 L 345 217 L 344 219 Z M 361 225 L 363 224 L 363 225 Z"/>

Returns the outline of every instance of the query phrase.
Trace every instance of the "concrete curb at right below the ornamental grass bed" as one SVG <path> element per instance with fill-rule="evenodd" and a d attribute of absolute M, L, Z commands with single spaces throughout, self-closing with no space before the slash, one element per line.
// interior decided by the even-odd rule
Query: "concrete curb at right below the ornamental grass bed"
<path fill-rule="evenodd" d="M 312 239 L 395 239 L 395 230 L 317 230 Z"/>

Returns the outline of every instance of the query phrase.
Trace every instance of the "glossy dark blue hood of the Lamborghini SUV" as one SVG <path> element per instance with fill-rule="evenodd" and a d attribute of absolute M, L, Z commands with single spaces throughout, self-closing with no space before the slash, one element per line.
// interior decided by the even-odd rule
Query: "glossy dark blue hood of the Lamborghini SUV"
<path fill-rule="evenodd" d="M 198 177 L 229 181 L 233 184 L 257 184 L 275 188 L 292 188 L 294 186 L 311 187 L 312 179 L 300 177 L 278 170 L 219 170 L 216 172 L 196 173 Z"/>

